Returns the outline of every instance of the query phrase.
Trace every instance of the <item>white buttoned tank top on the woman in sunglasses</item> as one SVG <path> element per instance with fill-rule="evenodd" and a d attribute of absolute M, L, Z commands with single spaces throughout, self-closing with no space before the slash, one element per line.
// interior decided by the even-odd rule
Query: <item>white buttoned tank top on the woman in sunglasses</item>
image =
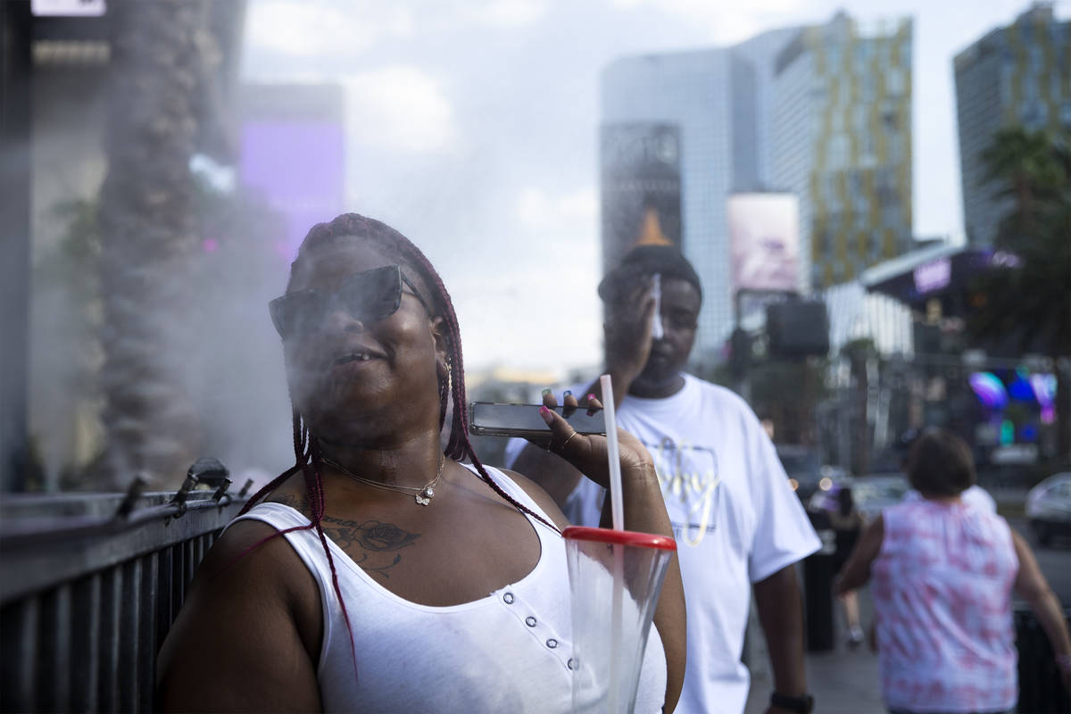
<path fill-rule="evenodd" d="M 546 517 L 506 474 L 491 467 L 487 471 L 517 502 Z M 356 674 L 346 621 L 319 537 L 313 530 L 286 533 L 283 537 L 305 563 L 320 591 L 323 642 L 317 679 L 323 710 L 407 714 L 572 711 L 573 647 L 564 541 L 526 517 L 539 534 L 542 549 L 531 573 L 487 597 L 449 607 L 419 605 L 395 595 L 329 538 L 352 625 Z M 281 503 L 257 504 L 231 523 L 243 519 L 261 520 L 276 530 L 310 522 Z M 635 711 L 661 712 L 665 688 L 665 652 L 652 624 Z"/>

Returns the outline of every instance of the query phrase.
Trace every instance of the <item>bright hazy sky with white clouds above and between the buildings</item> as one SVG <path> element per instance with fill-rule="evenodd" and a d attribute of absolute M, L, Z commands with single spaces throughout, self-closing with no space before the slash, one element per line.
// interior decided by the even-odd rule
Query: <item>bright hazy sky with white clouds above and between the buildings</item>
<path fill-rule="evenodd" d="M 346 207 L 419 245 L 468 369 L 602 359 L 599 75 L 618 57 L 910 16 L 915 234 L 963 240 L 952 58 L 1021 0 L 251 0 L 242 78 L 346 95 Z M 1056 4 L 1059 17 L 1071 6 Z M 329 219 L 333 216 L 325 216 Z"/>

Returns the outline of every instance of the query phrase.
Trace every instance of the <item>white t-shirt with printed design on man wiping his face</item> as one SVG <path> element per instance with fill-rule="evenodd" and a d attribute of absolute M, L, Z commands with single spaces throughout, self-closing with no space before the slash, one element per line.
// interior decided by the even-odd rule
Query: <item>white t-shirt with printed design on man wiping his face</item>
<path fill-rule="evenodd" d="M 742 712 L 740 662 L 751 586 L 820 546 L 770 439 L 743 399 L 683 375 L 664 399 L 628 395 L 618 426 L 654 457 L 677 538 L 688 608 L 688 668 L 677 712 Z M 510 453 L 519 453 L 511 445 Z M 565 515 L 598 526 L 604 490 L 583 478 Z"/>

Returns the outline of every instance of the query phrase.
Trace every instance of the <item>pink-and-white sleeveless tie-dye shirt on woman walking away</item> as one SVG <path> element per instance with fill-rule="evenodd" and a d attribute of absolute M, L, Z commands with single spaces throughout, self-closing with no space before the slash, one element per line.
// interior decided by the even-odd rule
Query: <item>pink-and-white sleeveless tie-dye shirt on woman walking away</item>
<path fill-rule="evenodd" d="M 998 712 L 1019 696 L 1007 521 L 963 503 L 883 512 L 872 594 L 886 705 Z"/>

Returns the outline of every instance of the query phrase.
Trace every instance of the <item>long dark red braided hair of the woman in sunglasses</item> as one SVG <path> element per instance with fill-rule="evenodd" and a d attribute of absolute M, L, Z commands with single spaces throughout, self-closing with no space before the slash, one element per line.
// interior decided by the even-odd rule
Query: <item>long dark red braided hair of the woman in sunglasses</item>
<path fill-rule="evenodd" d="M 480 478 L 491 488 L 509 502 L 513 507 L 522 513 L 528 514 L 532 518 L 544 523 L 548 528 L 558 532 L 558 528 L 543 516 L 519 503 L 516 499 L 506 492 L 502 487 L 487 473 L 480 458 L 472 447 L 468 438 L 468 408 L 465 396 L 465 367 L 462 361 L 462 338 L 461 329 L 457 324 L 457 315 L 454 313 L 453 302 L 450 293 L 447 292 L 442 278 L 428 261 L 427 257 L 409 239 L 394 230 L 390 226 L 359 215 L 357 213 L 344 213 L 330 223 L 319 223 L 312 227 L 301 247 L 298 248 L 298 257 L 290 265 L 290 278 L 287 284 L 289 290 L 293 283 L 295 274 L 303 264 L 303 259 L 308 254 L 325 248 L 340 245 L 351 245 L 359 242 L 367 242 L 382 253 L 384 257 L 397 260 L 416 273 L 416 278 L 423 292 L 431 297 L 428 310 L 437 317 L 443 319 L 446 325 L 444 338 L 447 343 L 447 369 L 446 374 L 439 375 L 439 428 L 446 424 L 447 409 L 450 401 L 453 401 L 453 413 L 450 424 L 450 439 L 443 450 L 443 456 L 454 460 L 468 458 L 476 468 Z M 293 455 L 295 465 L 281 473 L 271 483 L 257 491 L 242 508 L 241 513 L 246 513 L 256 503 L 261 501 L 268 493 L 282 485 L 287 478 L 300 471 L 305 482 L 305 492 L 310 503 L 310 523 L 298 526 L 273 533 L 262 541 L 247 548 L 245 552 L 259 547 L 267 541 L 298 530 L 315 530 L 319 536 L 323 552 L 327 556 L 328 564 L 331 568 L 331 581 L 335 595 L 342 605 L 343 616 L 349 626 L 349 613 L 343 601 L 342 591 L 338 587 L 338 576 L 335 572 L 334 559 L 328 548 L 327 536 L 323 533 L 321 520 L 325 513 L 323 480 L 320 476 L 319 446 L 315 435 L 308 431 L 308 425 L 304 422 L 297 408 L 293 407 L 291 395 L 291 414 L 293 430 Z M 245 555 L 242 553 L 242 556 Z M 242 556 L 239 556 L 241 558 Z M 353 647 L 352 635 L 350 636 L 350 647 Z M 356 667 L 356 652 L 355 652 Z"/>

